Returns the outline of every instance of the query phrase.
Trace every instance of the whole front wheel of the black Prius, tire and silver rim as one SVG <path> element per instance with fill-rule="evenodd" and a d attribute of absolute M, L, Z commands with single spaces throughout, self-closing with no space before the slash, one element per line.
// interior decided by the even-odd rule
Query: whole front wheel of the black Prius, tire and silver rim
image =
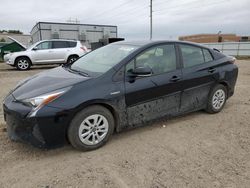
<path fill-rule="evenodd" d="M 114 131 L 114 118 L 102 106 L 91 106 L 80 111 L 68 129 L 68 139 L 79 150 L 94 150 L 103 146 Z"/>

